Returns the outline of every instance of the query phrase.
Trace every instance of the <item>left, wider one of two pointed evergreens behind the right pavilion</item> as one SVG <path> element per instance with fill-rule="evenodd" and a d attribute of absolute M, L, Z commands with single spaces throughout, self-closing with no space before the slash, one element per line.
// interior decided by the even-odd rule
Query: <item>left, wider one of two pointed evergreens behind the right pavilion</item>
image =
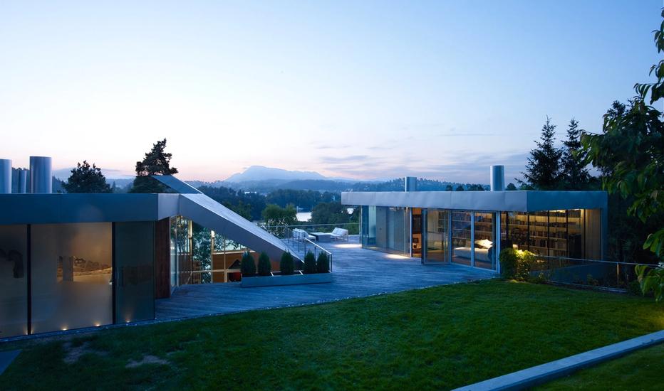
<path fill-rule="evenodd" d="M 535 141 L 537 147 L 530 151 L 526 172 L 522 173 L 525 181 L 517 179 L 519 183 L 538 190 L 551 190 L 559 186 L 562 151 L 554 146 L 555 136 L 556 125 L 551 124 L 551 118 L 546 116 L 540 141 Z"/>

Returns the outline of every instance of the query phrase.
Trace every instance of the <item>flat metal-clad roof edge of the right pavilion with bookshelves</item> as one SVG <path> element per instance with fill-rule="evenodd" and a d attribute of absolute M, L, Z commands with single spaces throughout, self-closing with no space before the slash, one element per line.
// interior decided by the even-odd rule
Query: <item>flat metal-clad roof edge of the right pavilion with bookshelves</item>
<path fill-rule="evenodd" d="M 606 209 L 606 191 L 349 191 L 343 205 L 537 212 Z"/>

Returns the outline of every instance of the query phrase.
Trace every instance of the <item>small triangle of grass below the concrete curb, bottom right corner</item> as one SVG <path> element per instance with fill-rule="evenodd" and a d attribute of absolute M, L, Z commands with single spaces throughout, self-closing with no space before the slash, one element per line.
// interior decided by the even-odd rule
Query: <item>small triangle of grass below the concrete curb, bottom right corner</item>
<path fill-rule="evenodd" d="M 664 343 L 581 370 L 538 390 L 662 390 Z"/>

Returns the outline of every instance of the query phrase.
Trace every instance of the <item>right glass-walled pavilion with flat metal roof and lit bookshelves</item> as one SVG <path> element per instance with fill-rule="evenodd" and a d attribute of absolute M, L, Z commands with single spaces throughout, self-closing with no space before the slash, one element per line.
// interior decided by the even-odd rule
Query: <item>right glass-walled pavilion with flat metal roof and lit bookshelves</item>
<path fill-rule="evenodd" d="M 361 208 L 362 247 L 496 272 L 507 247 L 540 257 L 603 259 L 607 200 L 603 191 L 341 194 L 344 205 Z"/>

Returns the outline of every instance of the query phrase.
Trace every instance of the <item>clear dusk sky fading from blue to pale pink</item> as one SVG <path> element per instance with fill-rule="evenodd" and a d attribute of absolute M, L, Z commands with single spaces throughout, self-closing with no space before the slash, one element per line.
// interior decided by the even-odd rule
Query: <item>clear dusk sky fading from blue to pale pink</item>
<path fill-rule="evenodd" d="M 520 177 L 546 116 L 601 131 L 660 59 L 662 0 L 0 0 L 0 158 L 185 180 Z"/>

